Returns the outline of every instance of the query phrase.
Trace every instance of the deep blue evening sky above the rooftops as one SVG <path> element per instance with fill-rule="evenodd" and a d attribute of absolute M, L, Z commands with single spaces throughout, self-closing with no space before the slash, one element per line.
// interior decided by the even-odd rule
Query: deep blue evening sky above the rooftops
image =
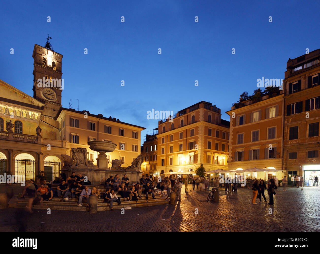
<path fill-rule="evenodd" d="M 296 0 L 2 1 L 0 79 L 33 96 L 33 47 L 49 34 L 63 55 L 63 107 L 79 99 L 79 110 L 147 128 L 143 140 L 153 108 L 204 100 L 229 120 L 258 78 L 284 78 L 289 58 L 320 48 L 318 13 L 319 1 Z"/>

